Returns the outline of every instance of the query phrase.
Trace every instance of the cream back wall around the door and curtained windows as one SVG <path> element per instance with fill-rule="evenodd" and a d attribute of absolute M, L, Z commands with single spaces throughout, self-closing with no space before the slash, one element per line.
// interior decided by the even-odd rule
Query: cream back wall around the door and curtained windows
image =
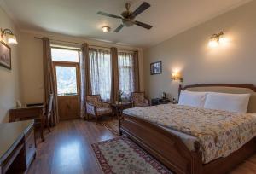
<path fill-rule="evenodd" d="M 43 74 L 43 45 L 42 40 L 34 37 L 49 37 L 53 40 L 62 40 L 67 42 L 88 43 L 89 45 L 99 45 L 105 47 L 115 46 L 119 49 L 137 49 L 117 44 L 108 44 L 105 42 L 96 42 L 83 38 L 68 37 L 50 32 L 21 32 L 20 36 L 20 57 L 22 59 L 21 72 L 21 94 L 23 103 L 43 102 L 44 98 L 44 74 Z M 60 43 L 63 44 L 63 43 Z M 72 44 L 73 45 L 73 44 Z M 73 45 L 75 46 L 75 44 Z M 79 45 L 76 45 L 79 46 Z M 143 84 L 143 49 L 139 50 L 139 65 L 141 90 L 144 90 Z"/>

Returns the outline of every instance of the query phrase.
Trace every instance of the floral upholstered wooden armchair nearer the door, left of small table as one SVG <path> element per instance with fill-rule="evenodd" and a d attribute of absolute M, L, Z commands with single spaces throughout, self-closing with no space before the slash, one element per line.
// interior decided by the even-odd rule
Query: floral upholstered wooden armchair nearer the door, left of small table
<path fill-rule="evenodd" d="M 97 119 L 102 116 L 113 116 L 111 104 L 108 102 L 102 102 L 100 95 L 86 96 L 86 113 L 92 117 L 95 117 L 96 124 Z"/>

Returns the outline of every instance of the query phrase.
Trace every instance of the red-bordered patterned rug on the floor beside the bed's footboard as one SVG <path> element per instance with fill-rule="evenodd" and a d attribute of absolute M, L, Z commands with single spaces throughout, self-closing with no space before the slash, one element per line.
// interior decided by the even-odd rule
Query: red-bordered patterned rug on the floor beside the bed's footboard
<path fill-rule="evenodd" d="M 171 174 L 166 167 L 124 137 L 91 145 L 105 174 Z"/>

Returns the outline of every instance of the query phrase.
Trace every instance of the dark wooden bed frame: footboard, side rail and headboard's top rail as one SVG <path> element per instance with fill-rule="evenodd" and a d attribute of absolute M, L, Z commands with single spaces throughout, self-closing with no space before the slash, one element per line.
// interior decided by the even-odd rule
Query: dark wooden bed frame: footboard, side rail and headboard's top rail
<path fill-rule="evenodd" d="M 247 88 L 256 92 L 256 87 L 251 84 L 195 84 L 180 86 L 180 90 L 214 86 Z M 244 159 L 256 153 L 256 137 L 254 137 L 250 142 L 247 142 L 229 156 L 202 164 L 199 142 L 195 142 L 195 150 L 190 151 L 178 136 L 144 119 L 123 114 L 122 119 L 119 120 L 119 132 L 123 136 L 128 136 L 132 141 L 136 142 L 155 159 L 159 160 L 175 173 L 226 173 L 240 164 Z"/>

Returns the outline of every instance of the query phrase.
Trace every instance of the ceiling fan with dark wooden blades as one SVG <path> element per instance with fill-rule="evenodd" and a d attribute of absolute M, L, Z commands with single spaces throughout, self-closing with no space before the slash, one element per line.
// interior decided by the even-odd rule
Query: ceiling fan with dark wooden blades
<path fill-rule="evenodd" d="M 152 26 L 150 26 L 148 24 L 134 20 L 138 14 L 143 13 L 144 10 L 146 10 L 150 7 L 149 3 L 146 3 L 146 2 L 142 3 L 134 12 L 130 11 L 130 7 L 131 7 L 130 3 L 125 3 L 126 10 L 123 13 L 121 13 L 121 16 L 114 15 L 114 14 L 108 14 L 108 13 L 105 13 L 102 11 L 99 11 L 97 14 L 105 15 L 105 16 L 108 16 L 111 18 L 117 18 L 117 19 L 122 20 L 122 24 L 120 26 L 118 26 L 113 32 L 119 32 L 124 26 L 129 27 L 129 26 L 133 26 L 134 24 L 137 26 L 142 26 L 143 28 L 146 28 L 148 30 L 150 28 L 152 28 Z"/>

